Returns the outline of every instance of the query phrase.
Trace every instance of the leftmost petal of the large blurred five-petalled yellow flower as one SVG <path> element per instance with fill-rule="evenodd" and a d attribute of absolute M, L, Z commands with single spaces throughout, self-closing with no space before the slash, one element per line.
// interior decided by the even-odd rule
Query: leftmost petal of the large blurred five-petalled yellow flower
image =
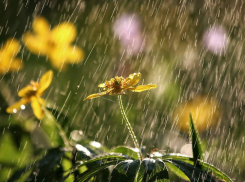
<path fill-rule="evenodd" d="M 27 32 L 23 35 L 22 40 L 25 46 L 34 54 L 47 55 L 48 46 L 47 38 L 38 37 L 33 35 L 30 32 Z"/>

